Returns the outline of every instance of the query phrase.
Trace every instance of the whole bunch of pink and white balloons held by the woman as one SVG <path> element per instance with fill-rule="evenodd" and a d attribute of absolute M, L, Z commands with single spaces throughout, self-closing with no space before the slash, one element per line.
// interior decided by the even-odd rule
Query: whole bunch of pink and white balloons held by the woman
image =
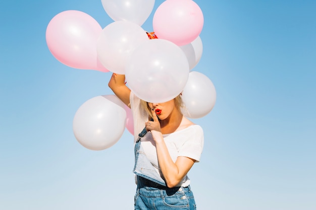
<path fill-rule="evenodd" d="M 148 33 L 141 26 L 151 14 L 154 0 L 101 0 L 101 3 L 114 21 L 103 29 L 80 11 L 65 11 L 52 18 L 46 29 L 52 55 L 73 68 L 124 74 L 129 88 L 145 101 L 165 102 L 183 92 L 188 116 L 206 115 L 209 106 L 214 106 L 215 89 L 206 76 L 190 73 L 203 49 L 199 37 L 203 14 L 198 5 L 192 0 L 165 1 L 154 13 L 154 32 Z M 203 90 L 197 94 L 192 84 Z M 210 92 L 213 98 L 206 103 L 207 108 L 193 106 L 203 103 L 197 95 L 208 96 Z M 73 131 L 84 147 L 102 150 L 118 141 L 124 131 L 122 125 L 133 134 L 132 122 L 130 109 L 118 98 L 99 96 L 78 109 Z"/>

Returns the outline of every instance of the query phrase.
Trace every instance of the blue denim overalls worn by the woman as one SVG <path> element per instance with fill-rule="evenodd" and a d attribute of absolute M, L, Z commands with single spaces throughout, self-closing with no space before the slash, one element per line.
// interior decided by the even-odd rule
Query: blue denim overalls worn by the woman
<path fill-rule="evenodd" d="M 165 180 L 147 159 L 142 147 L 141 137 L 147 133 L 144 128 L 135 143 L 135 166 L 137 190 L 134 198 L 135 210 L 195 210 L 195 200 L 190 185 L 188 187 L 166 186 Z"/>

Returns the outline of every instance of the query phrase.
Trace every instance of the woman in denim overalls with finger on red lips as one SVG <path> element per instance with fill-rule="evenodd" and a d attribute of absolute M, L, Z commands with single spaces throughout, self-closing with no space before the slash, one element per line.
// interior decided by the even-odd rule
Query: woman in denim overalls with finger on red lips
<path fill-rule="evenodd" d="M 135 209 L 196 209 L 187 173 L 199 162 L 203 130 L 183 116 L 181 95 L 164 103 L 147 103 L 118 74 L 112 75 L 109 87 L 133 113 Z"/>

